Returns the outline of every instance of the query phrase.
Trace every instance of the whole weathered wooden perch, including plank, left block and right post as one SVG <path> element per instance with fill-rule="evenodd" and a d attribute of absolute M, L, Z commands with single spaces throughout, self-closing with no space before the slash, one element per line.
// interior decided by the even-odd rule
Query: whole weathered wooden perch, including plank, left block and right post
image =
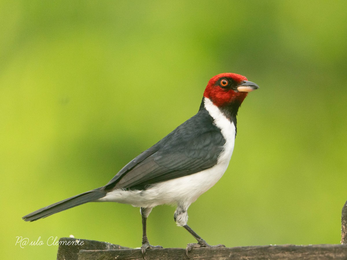
<path fill-rule="evenodd" d="M 66 245 L 83 241 L 83 244 Z M 65 242 L 65 243 L 64 243 Z M 59 239 L 57 260 L 143 260 L 140 249 L 87 239 L 62 237 Z M 206 259 L 206 260 L 347 260 L 347 201 L 341 214 L 341 245 L 266 245 L 232 248 L 197 248 L 189 252 L 183 248 L 147 249 L 146 260 Z"/>

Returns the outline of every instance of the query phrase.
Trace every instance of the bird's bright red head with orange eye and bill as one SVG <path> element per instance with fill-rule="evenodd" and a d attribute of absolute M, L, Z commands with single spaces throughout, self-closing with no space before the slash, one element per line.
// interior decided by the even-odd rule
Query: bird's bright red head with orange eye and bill
<path fill-rule="evenodd" d="M 209 98 L 214 105 L 224 107 L 235 102 L 241 104 L 248 92 L 258 88 L 257 84 L 247 81 L 245 76 L 222 73 L 210 79 L 204 97 Z"/>

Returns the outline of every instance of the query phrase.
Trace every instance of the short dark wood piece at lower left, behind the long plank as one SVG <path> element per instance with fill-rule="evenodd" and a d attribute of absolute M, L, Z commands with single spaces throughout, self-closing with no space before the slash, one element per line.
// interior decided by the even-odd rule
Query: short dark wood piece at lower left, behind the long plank
<path fill-rule="evenodd" d="M 79 242 L 78 242 L 79 241 Z M 81 243 L 83 241 L 83 243 Z M 79 250 L 129 249 L 120 245 L 88 239 L 62 237 L 59 239 L 57 260 L 77 260 Z"/>

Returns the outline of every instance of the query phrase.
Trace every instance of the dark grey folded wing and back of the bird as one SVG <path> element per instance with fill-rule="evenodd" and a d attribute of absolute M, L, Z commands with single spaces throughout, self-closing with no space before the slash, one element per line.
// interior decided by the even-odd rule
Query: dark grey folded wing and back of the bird
<path fill-rule="evenodd" d="M 202 171 L 217 163 L 224 144 L 220 129 L 202 109 L 130 161 L 104 187 L 145 189 L 156 182 Z"/>

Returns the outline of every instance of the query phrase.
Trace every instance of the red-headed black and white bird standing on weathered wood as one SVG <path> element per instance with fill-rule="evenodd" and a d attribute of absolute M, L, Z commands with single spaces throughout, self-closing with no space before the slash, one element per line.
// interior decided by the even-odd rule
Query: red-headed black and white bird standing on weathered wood
<path fill-rule="evenodd" d="M 205 88 L 198 112 L 158 143 L 126 164 L 106 185 L 51 204 L 22 219 L 35 221 L 87 202 L 118 202 L 140 208 L 141 252 L 162 248 L 149 243 L 147 217 L 157 205 L 177 205 L 174 220 L 197 243 L 189 243 L 186 254 L 209 245 L 187 225 L 188 207 L 210 189 L 226 171 L 237 133 L 236 116 L 248 92 L 259 86 L 236 73 L 212 77 Z"/>

